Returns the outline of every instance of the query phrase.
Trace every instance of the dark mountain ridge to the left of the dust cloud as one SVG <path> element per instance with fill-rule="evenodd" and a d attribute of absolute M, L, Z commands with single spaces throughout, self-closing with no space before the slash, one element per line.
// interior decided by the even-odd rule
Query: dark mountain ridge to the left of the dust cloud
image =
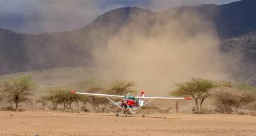
<path fill-rule="evenodd" d="M 143 12 L 151 13 L 140 8 L 120 8 L 99 16 L 79 30 L 58 33 L 27 35 L 0 29 L 0 75 L 91 66 L 91 47 L 105 46 L 107 38 L 128 22 L 129 16 Z"/>

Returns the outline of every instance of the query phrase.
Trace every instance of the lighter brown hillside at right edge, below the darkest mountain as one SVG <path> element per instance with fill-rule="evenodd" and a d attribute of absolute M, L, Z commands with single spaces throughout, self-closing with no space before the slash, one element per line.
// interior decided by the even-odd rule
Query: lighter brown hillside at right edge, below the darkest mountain
<path fill-rule="evenodd" d="M 256 85 L 256 32 L 226 38 L 222 40 L 220 47 L 229 60 L 238 58 L 238 61 L 227 61 L 228 65 L 232 66 L 229 67 L 232 77 L 240 82 Z"/>

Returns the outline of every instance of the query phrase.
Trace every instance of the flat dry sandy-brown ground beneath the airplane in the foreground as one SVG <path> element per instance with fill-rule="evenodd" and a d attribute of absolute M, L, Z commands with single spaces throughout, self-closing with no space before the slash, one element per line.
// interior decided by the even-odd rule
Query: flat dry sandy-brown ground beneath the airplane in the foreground
<path fill-rule="evenodd" d="M 256 135 L 256 116 L 0 112 L 0 135 Z"/>

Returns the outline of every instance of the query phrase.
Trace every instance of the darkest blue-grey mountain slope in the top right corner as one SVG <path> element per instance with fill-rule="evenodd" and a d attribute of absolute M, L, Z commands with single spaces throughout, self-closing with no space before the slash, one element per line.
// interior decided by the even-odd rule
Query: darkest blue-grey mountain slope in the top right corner
<path fill-rule="evenodd" d="M 250 31 L 256 31 L 256 1 L 241 0 L 224 5 L 201 5 L 179 7 L 166 10 L 163 13 L 194 12 L 215 25 L 220 38 L 231 38 Z"/>

